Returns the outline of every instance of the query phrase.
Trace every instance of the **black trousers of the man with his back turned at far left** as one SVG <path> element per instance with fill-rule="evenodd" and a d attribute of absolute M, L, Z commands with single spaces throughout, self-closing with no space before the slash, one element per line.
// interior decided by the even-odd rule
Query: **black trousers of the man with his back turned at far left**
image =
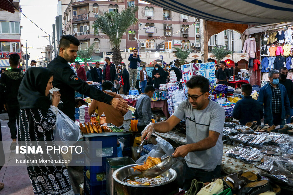
<path fill-rule="evenodd" d="M 11 105 L 6 104 L 6 109 L 7 109 L 7 113 L 8 113 L 7 125 L 10 129 L 11 139 L 16 139 L 16 137 L 17 137 L 16 122 L 17 122 L 17 126 L 19 127 L 19 105 L 11 106 Z"/>

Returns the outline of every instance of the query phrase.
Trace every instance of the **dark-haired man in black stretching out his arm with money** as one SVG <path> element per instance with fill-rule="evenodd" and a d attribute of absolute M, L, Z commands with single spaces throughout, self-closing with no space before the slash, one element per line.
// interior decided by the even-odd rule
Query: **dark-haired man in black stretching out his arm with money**
<path fill-rule="evenodd" d="M 53 86 L 60 89 L 63 108 L 61 109 L 71 120 L 75 121 L 75 107 L 81 106 L 75 102 L 75 91 L 87 95 L 97 101 L 112 104 L 119 111 L 127 111 L 127 101 L 122 98 L 113 98 L 99 89 L 88 85 L 79 79 L 68 62 L 72 63 L 77 57 L 80 42 L 72 35 L 62 35 L 59 41 L 59 55 L 51 61 L 47 68 L 54 74 Z"/>

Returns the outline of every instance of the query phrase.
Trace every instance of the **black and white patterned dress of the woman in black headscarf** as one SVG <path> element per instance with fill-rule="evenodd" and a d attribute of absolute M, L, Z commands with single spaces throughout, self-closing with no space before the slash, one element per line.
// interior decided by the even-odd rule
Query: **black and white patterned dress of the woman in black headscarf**
<path fill-rule="evenodd" d="M 31 142 L 47 143 L 53 141 L 53 130 L 56 126 L 56 113 L 54 107 L 47 111 L 40 109 L 21 109 L 20 111 L 20 142 L 21 145 L 28 145 Z M 39 145 L 39 144 L 38 144 Z M 63 159 L 60 154 L 52 151 L 44 152 L 52 159 Z M 43 156 L 44 157 L 44 156 Z M 38 161 L 34 154 L 25 154 L 25 159 Z M 70 184 L 67 168 L 60 165 L 29 165 L 27 164 L 28 175 L 32 182 L 35 195 L 71 195 L 74 194 Z"/>

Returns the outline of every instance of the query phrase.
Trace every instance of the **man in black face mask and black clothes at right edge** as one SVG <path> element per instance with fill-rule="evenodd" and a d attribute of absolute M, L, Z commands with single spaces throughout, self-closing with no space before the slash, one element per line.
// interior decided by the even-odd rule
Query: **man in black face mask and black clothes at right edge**
<path fill-rule="evenodd" d="M 282 67 L 280 70 L 280 79 L 279 83 L 284 85 L 287 91 L 287 95 L 290 101 L 290 117 L 287 118 L 287 123 L 291 122 L 291 116 L 293 116 L 293 82 L 290 79 L 287 79 L 288 69 L 286 67 Z"/>

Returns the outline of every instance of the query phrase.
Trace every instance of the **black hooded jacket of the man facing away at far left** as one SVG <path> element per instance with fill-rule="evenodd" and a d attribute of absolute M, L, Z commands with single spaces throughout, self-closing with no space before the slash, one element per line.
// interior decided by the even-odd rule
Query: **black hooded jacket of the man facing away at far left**
<path fill-rule="evenodd" d="M 18 106 L 18 89 L 25 72 L 19 68 L 11 68 L 1 74 L 0 96 L 1 103 Z"/>

